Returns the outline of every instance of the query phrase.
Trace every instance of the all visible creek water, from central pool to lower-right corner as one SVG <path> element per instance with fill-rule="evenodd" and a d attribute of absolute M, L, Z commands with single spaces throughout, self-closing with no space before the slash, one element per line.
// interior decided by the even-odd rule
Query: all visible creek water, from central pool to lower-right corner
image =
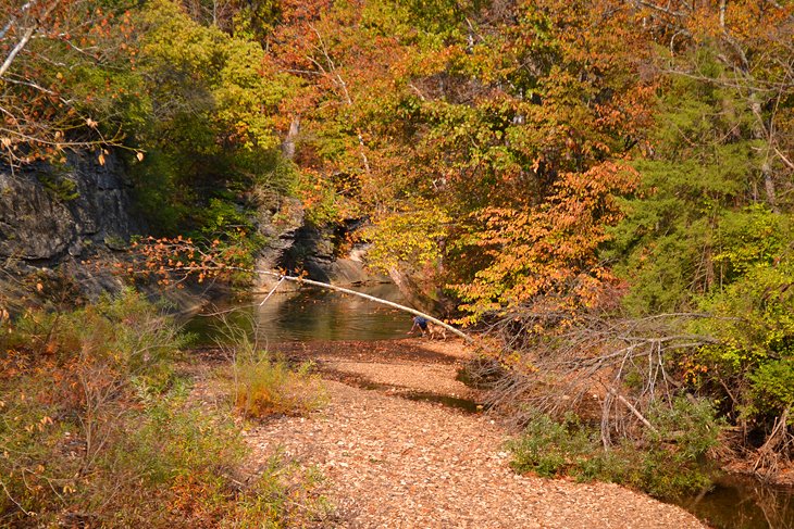
<path fill-rule="evenodd" d="M 396 303 L 405 302 L 393 285 L 357 290 Z M 405 338 L 412 324 L 407 313 L 320 289 L 276 292 L 262 304 L 261 300 L 224 302 L 193 317 L 186 330 L 196 335 L 197 344 L 209 345 L 222 339 L 224 328 L 232 324 L 256 331 L 260 343 L 266 347 L 284 341 L 398 339 Z M 409 394 L 408 398 L 466 408 L 460 403 L 445 402 L 442 395 Z M 712 490 L 674 503 L 717 529 L 794 529 L 794 490 L 764 486 L 749 478 L 723 477 Z"/>

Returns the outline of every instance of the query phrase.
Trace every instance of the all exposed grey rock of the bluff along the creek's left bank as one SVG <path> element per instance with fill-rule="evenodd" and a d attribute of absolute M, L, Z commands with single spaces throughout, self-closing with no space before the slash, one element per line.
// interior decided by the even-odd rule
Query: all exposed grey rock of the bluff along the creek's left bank
<path fill-rule="evenodd" d="M 110 275 L 97 276 L 82 266 L 88 256 L 108 256 L 126 248 L 133 235 L 146 235 L 146 212 L 135 215 L 132 184 L 113 154 L 104 164 L 91 153 L 71 153 L 62 165 L 34 163 L 11 171 L 0 164 L 0 263 L 20 276 L 53 274 L 58 268 L 80 290 L 98 294 L 121 286 Z M 256 192 L 256 191 L 252 191 Z M 335 285 L 382 282 L 364 268 L 363 247 L 339 255 L 342 240 L 357 222 L 318 229 L 306 222 L 300 201 L 274 191 L 257 197 L 256 224 L 266 245 L 257 267 L 306 270 L 311 279 Z M 119 254 L 123 257 L 123 254 Z M 260 276 L 255 290 L 270 290 L 273 279 Z M 0 278 L 0 305 L 11 299 Z M 7 301 L 8 302 L 8 301 Z"/>

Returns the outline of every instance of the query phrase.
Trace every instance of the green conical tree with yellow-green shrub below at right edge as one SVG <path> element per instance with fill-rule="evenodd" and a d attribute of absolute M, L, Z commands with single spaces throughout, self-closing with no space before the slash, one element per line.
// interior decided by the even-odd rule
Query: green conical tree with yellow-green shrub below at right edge
<path fill-rule="evenodd" d="M 655 151 L 634 163 L 642 193 L 624 199 L 626 217 L 603 256 L 629 282 L 623 304 L 634 315 L 710 316 L 681 329 L 715 341 L 686 353 L 699 371 L 684 368 L 683 378 L 723 399 L 731 420 L 765 429 L 791 405 L 792 215 L 769 205 L 757 110 L 725 80 L 712 46 L 679 54 L 697 75 L 662 85 Z"/>

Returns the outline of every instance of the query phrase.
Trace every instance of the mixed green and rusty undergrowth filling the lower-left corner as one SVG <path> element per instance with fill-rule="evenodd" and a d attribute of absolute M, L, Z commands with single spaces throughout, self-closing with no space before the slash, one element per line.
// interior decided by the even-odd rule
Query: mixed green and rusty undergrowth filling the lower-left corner
<path fill-rule="evenodd" d="M 178 329 L 139 294 L 0 332 L 1 527 L 285 527 L 322 511 L 281 458 L 244 484 L 229 410 L 191 402 Z"/>

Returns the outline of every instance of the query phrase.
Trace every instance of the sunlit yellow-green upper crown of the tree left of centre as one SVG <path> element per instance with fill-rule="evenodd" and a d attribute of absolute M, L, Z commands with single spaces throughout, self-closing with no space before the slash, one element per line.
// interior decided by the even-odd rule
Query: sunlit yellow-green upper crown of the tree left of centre
<path fill-rule="evenodd" d="M 200 26 L 166 0 L 154 2 L 146 16 L 149 30 L 141 61 L 153 80 L 149 93 L 154 115 L 211 130 L 204 138 L 191 138 L 194 144 L 185 147 L 275 147 L 273 113 L 268 106 L 274 111 L 281 96 L 262 75 L 261 46 Z"/>

